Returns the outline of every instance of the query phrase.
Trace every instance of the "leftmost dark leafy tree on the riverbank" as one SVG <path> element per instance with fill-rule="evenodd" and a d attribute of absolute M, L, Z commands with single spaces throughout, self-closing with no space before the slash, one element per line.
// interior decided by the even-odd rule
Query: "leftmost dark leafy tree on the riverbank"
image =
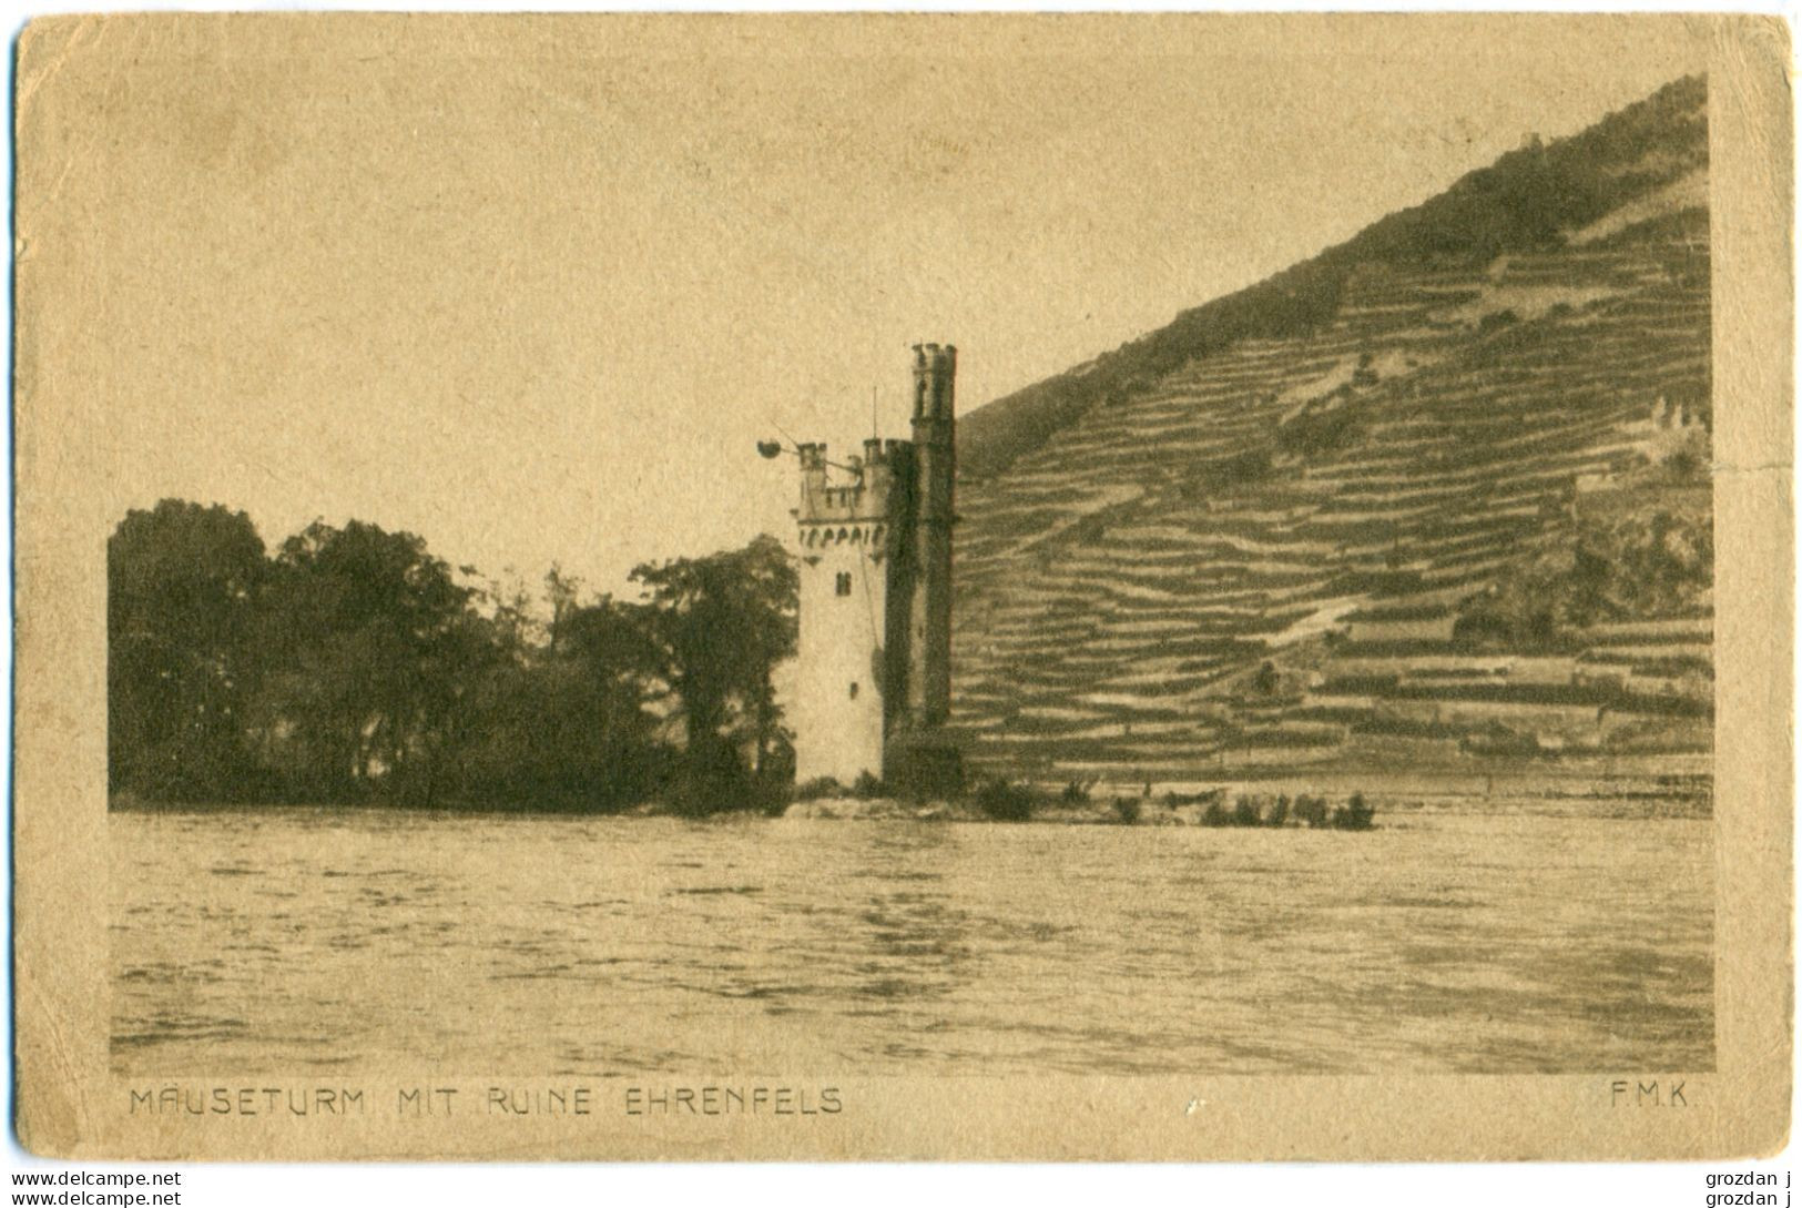
<path fill-rule="evenodd" d="M 250 644 L 267 577 L 250 517 L 164 499 L 106 541 L 108 786 L 162 801 L 241 792 Z"/>

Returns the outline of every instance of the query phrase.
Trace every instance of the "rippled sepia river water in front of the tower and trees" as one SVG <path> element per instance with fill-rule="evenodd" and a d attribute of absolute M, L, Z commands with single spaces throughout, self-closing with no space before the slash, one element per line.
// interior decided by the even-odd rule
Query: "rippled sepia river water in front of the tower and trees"
<path fill-rule="evenodd" d="M 1706 819 L 1379 822 L 114 813 L 112 1062 L 133 1076 L 1714 1067 Z"/>

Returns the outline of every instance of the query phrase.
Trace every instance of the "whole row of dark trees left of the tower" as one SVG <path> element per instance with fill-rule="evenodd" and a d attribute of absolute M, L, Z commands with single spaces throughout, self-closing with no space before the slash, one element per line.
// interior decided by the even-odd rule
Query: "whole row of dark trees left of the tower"
<path fill-rule="evenodd" d="M 117 801 L 618 810 L 755 806 L 793 773 L 771 689 L 795 649 L 773 537 L 542 604 L 405 532 L 164 499 L 106 546 Z M 548 617 L 548 618 L 546 618 Z"/>

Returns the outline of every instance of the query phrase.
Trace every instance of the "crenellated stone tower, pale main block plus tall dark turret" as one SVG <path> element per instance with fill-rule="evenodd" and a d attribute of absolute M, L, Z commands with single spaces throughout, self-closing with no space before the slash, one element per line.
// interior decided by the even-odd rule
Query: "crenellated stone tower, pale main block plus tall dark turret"
<path fill-rule="evenodd" d="M 951 710 L 957 350 L 914 350 L 914 440 L 867 440 L 836 467 L 800 445 L 795 779 L 910 792 L 960 781 Z M 831 471 L 843 478 L 834 481 Z"/>

